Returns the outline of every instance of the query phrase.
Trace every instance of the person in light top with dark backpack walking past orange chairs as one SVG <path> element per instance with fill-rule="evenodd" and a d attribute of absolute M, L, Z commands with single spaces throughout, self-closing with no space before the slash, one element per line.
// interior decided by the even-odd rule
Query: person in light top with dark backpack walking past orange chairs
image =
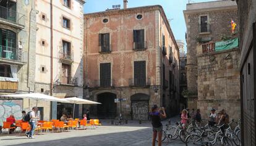
<path fill-rule="evenodd" d="M 30 131 L 25 133 L 25 135 L 29 139 L 34 139 L 35 138 L 35 137 L 33 137 L 33 134 L 34 134 L 34 131 L 35 131 L 36 120 L 38 120 L 38 118 L 36 117 L 37 110 L 38 110 L 37 107 L 33 107 L 32 111 L 28 112 L 27 115 L 24 116 L 24 121 L 28 121 L 28 124 L 30 124 Z"/>

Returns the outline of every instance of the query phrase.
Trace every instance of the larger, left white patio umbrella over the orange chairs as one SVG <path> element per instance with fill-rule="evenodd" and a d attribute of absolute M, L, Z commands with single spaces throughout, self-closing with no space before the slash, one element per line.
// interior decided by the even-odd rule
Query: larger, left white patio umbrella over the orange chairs
<path fill-rule="evenodd" d="M 20 99 L 34 99 L 36 100 L 36 107 L 38 100 L 43 101 L 51 101 L 51 102 L 66 102 L 69 103 L 69 101 L 65 99 L 58 99 L 56 97 L 40 94 L 40 93 L 28 93 L 28 94 L 9 94 L 9 95 L 0 95 L 0 97 L 13 97 L 13 98 L 20 98 Z"/>

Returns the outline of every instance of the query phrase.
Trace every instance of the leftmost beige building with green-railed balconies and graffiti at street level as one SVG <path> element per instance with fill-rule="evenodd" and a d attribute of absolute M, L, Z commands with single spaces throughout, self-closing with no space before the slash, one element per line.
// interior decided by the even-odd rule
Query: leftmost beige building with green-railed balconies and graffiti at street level
<path fill-rule="evenodd" d="M 0 95 L 33 92 L 36 40 L 33 1 L 3 0 L 0 10 Z M 1 98 L 0 125 L 11 114 L 18 120 L 22 118 L 23 108 L 28 110 L 27 100 Z"/>

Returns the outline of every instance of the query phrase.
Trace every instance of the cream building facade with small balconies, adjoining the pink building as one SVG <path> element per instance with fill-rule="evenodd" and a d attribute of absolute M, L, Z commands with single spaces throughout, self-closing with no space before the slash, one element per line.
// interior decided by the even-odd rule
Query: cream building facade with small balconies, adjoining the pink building
<path fill-rule="evenodd" d="M 82 0 L 35 1 L 35 92 L 59 98 L 83 97 L 83 4 Z M 50 115 L 55 119 L 62 115 L 57 112 L 61 105 L 53 102 L 50 109 L 50 102 L 39 102 L 38 107 L 43 107 L 44 120 L 49 120 Z M 82 116 L 82 106 L 79 108 L 76 117 Z"/>

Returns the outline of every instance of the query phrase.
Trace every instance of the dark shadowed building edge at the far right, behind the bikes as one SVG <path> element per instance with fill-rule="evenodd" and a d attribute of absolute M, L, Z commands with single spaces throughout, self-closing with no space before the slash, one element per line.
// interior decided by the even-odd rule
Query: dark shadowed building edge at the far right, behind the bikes
<path fill-rule="evenodd" d="M 239 18 L 239 39 L 241 57 L 241 118 L 242 145 L 255 145 L 256 139 L 256 1 L 239 0 L 237 2 Z"/>

